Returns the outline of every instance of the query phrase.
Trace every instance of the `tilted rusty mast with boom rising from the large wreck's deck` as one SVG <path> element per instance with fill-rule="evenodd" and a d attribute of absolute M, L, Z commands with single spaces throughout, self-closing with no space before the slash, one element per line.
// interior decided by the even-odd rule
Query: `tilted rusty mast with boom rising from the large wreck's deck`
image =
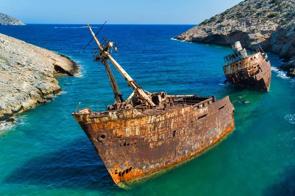
<path fill-rule="evenodd" d="M 92 29 L 90 28 L 89 24 L 87 24 L 100 52 L 99 54 L 94 58 L 95 61 L 102 61 L 104 66 L 106 67 L 106 71 L 109 76 L 109 80 L 111 82 L 115 98 L 118 102 L 122 102 L 122 95 L 119 91 L 118 84 L 116 83 L 115 77 L 111 71 L 110 65 L 107 61 L 109 59 L 111 63 L 116 67 L 118 72 L 121 74 L 121 76 L 127 81 L 128 85 L 133 88 L 133 90 L 139 95 L 139 97 L 147 104 L 150 105 L 151 107 L 155 107 L 156 105 L 152 102 L 150 97 L 146 94 L 146 92 L 141 88 L 141 86 L 138 86 L 136 82 L 127 74 L 127 72 L 119 65 L 119 63 L 111 56 L 112 50 L 113 50 L 113 45 L 115 44 L 114 42 L 110 42 L 107 39 L 104 39 L 105 44 L 101 45 L 99 41 L 97 40 L 95 34 L 93 33 Z M 111 49 L 111 51 L 110 51 Z M 109 53 L 110 51 L 110 53 Z M 115 46 L 115 51 L 117 51 L 117 48 Z"/>

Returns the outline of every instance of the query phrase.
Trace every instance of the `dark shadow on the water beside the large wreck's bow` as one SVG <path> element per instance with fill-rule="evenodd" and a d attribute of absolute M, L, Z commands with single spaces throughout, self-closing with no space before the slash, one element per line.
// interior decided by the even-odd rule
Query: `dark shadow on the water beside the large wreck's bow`
<path fill-rule="evenodd" d="M 6 183 L 101 191 L 107 194 L 115 186 L 107 169 L 88 138 L 61 147 L 60 151 L 29 160 L 5 179 Z"/>

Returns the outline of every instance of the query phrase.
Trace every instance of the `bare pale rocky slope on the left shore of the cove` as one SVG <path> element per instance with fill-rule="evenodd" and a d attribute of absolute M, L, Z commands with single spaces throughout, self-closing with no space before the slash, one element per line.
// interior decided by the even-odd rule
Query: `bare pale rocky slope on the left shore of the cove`
<path fill-rule="evenodd" d="M 61 91 L 55 75 L 77 72 L 68 57 L 0 33 L 0 121 L 46 103 Z"/>

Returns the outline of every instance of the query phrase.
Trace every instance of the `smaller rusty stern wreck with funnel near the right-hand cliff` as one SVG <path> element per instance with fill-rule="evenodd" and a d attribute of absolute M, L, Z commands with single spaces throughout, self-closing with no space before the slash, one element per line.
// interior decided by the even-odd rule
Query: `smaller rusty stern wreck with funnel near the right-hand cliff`
<path fill-rule="evenodd" d="M 250 55 L 239 41 L 233 43 L 232 48 L 234 53 L 224 57 L 227 81 L 241 87 L 268 90 L 271 69 L 266 53 L 260 48 Z"/>

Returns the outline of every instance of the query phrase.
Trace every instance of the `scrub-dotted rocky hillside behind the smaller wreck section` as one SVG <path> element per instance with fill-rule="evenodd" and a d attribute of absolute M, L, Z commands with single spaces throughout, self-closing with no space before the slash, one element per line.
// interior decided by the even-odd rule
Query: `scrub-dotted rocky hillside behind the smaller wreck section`
<path fill-rule="evenodd" d="M 288 61 L 295 56 L 295 0 L 245 0 L 176 38 L 219 45 L 239 40 L 245 48 L 261 46 Z"/>

